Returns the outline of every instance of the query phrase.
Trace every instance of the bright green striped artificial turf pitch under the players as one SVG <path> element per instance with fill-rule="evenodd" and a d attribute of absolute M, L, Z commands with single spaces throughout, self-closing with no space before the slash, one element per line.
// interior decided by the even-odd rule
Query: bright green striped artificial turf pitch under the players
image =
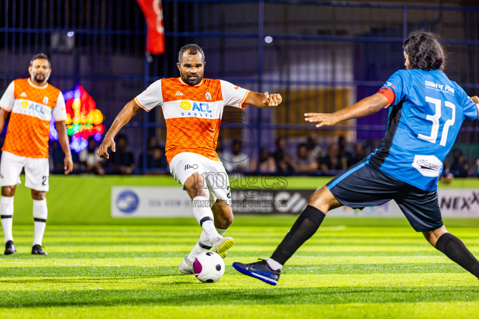
<path fill-rule="evenodd" d="M 178 271 L 200 228 L 47 225 L 48 256 L 32 256 L 33 225 L 14 225 L 18 253 L 0 256 L 0 318 L 478 318 L 479 281 L 411 227 L 324 226 L 285 265 L 278 286 L 234 261 L 267 258 L 294 217 L 239 217 L 223 278 Z M 378 220 L 379 222 L 380 220 Z M 479 255 L 477 228 L 449 227 Z"/>

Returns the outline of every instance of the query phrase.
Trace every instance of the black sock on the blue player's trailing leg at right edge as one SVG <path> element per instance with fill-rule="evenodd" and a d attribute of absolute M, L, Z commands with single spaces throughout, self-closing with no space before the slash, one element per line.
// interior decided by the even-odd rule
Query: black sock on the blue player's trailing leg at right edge
<path fill-rule="evenodd" d="M 437 240 L 436 249 L 479 278 L 479 261 L 469 252 L 459 238 L 446 232 Z"/>

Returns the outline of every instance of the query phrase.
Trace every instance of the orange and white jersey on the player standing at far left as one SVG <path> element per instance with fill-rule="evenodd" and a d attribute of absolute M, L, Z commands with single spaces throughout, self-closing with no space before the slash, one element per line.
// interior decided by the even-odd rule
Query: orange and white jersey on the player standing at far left
<path fill-rule="evenodd" d="M 2 151 L 15 155 L 47 158 L 50 119 L 65 121 L 67 111 L 61 91 L 50 84 L 34 85 L 29 78 L 10 83 L 0 107 L 11 112 Z"/>

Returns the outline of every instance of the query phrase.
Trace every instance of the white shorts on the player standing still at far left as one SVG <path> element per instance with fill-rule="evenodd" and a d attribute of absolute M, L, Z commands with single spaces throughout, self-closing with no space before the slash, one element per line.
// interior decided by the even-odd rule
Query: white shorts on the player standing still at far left
<path fill-rule="evenodd" d="M 0 186 L 20 185 L 20 173 L 25 167 L 25 186 L 39 191 L 48 191 L 50 167 L 48 158 L 18 156 L 3 151 L 0 161 Z"/>

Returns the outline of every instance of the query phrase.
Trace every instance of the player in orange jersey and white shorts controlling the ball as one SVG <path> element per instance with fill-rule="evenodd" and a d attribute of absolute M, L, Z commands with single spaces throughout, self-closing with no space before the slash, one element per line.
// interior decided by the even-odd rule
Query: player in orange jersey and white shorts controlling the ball
<path fill-rule="evenodd" d="M 223 258 L 234 244 L 222 235 L 233 221 L 228 176 L 216 153 L 217 132 L 225 105 L 243 109 L 277 106 L 279 94 L 251 92 L 223 80 L 203 78 L 205 55 L 196 44 L 187 44 L 178 54 L 179 78 L 152 83 L 126 103 L 100 145 L 98 155 L 108 158 L 115 151 L 115 134 L 140 110 L 161 106 L 166 121 L 165 154 L 171 175 L 192 198 L 194 217 L 203 228 L 199 241 L 180 264 L 183 273 L 193 273 L 193 261 L 213 248 Z"/>

